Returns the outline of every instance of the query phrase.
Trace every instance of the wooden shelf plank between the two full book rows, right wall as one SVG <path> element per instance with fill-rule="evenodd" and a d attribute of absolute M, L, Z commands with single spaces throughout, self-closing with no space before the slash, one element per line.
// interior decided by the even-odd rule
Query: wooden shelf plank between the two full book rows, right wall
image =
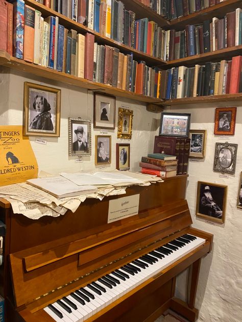
<path fill-rule="evenodd" d="M 200 53 L 199 55 L 184 57 L 173 61 L 168 61 L 164 68 L 171 68 L 176 66 L 194 66 L 195 64 L 203 65 L 206 62 L 219 62 L 223 59 L 231 59 L 234 56 L 241 55 L 242 45 L 227 47 L 215 51 Z M 163 68 L 163 66 L 162 66 Z"/>

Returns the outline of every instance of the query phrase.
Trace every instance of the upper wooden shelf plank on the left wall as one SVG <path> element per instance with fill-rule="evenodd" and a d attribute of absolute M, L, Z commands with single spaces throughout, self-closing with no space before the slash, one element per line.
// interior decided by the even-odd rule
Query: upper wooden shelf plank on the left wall
<path fill-rule="evenodd" d="M 137 0 L 136 0 L 137 1 Z M 62 14 L 45 7 L 44 5 L 41 5 L 40 3 L 36 2 L 35 0 L 26 0 L 25 3 L 29 6 L 31 6 L 34 9 L 37 9 L 41 11 L 42 17 L 46 18 L 49 16 L 56 16 L 59 17 L 59 23 L 62 24 L 67 29 L 75 29 L 78 33 L 90 33 L 95 36 L 95 41 L 98 42 L 98 44 L 105 44 L 112 47 L 118 48 L 123 53 L 130 53 L 133 52 L 133 57 L 135 60 L 143 60 L 147 63 L 147 65 L 150 66 L 158 66 L 158 65 L 165 65 L 166 62 L 161 60 L 160 58 L 153 57 L 151 55 L 147 55 L 147 53 L 136 50 L 132 47 L 126 46 L 124 44 L 121 44 L 111 38 L 105 37 L 101 35 L 100 33 L 95 32 L 94 30 L 91 30 L 87 28 L 85 25 L 76 22 L 74 20 L 71 20 L 67 18 L 66 16 L 63 16 Z"/>

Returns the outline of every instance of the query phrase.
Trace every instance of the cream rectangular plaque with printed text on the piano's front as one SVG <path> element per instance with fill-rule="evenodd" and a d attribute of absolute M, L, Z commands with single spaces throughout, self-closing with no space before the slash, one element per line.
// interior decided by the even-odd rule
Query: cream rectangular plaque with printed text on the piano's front
<path fill-rule="evenodd" d="M 139 212 L 139 195 L 109 201 L 108 223 L 134 216 Z"/>

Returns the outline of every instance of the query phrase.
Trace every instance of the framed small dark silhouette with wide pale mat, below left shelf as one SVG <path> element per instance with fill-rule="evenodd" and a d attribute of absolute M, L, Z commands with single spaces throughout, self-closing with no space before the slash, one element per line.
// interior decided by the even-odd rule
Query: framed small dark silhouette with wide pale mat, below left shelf
<path fill-rule="evenodd" d="M 93 127 L 115 128 L 115 96 L 94 93 Z"/>

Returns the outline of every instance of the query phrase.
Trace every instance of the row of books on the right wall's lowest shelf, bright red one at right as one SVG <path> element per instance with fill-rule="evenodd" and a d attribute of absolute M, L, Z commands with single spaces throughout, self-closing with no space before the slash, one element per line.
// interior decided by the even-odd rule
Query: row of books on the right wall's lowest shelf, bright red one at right
<path fill-rule="evenodd" d="M 207 62 L 202 66 L 180 66 L 159 71 L 157 97 L 174 99 L 240 93 L 241 62 L 242 56 L 236 56 L 231 61 Z"/>

